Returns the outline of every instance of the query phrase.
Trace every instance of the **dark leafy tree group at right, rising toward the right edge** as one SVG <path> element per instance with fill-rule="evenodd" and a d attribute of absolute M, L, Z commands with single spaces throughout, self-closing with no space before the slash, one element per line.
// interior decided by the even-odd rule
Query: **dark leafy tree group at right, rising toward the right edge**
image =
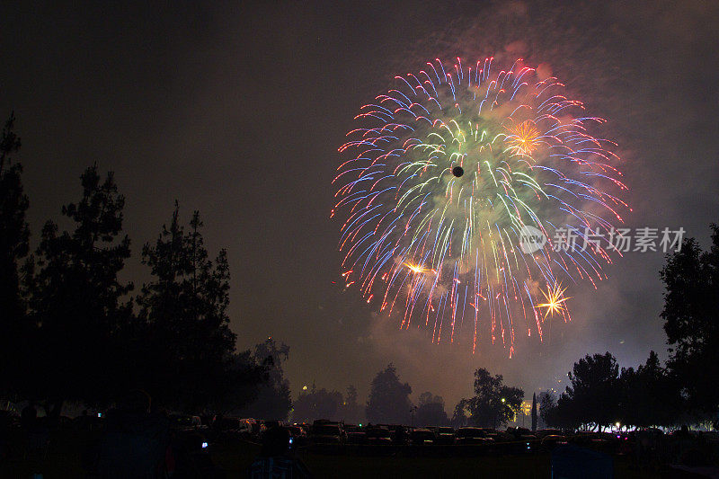
<path fill-rule="evenodd" d="M 562 395 L 540 395 L 540 413 L 555 427 L 601 430 L 675 428 L 705 424 L 719 429 L 719 226 L 702 251 L 693 238 L 670 253 L 661 269 L 669 359 L 656 352 L 638 368 L 619 368 L 609 352 L 587 355 L 569 373 Z"/>

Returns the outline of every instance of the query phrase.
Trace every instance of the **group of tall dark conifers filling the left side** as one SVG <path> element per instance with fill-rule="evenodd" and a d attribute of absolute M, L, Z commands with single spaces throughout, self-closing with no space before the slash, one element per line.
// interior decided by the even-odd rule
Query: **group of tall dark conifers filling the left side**
<path fill-rule="evenodd" d="M 57 416 L 67 402 L 103 407 L 142 389 L 177 411 L 287 417 L 288 347 L 235 350 L 227 253 L 209 256 L 199 211 L 184 225 L 175 202 L 141 248 L 151 279 L 136 288 L 120 274 L 131 253 L 125 198 L 94 164 L 31 249 L 14 120 L 0 138 L 0 396 Z"/>

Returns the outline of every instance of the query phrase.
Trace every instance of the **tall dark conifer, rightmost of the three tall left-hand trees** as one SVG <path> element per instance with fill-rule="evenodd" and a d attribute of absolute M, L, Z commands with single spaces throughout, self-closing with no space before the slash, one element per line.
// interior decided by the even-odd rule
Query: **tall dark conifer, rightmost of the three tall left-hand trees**
<path fill-rule="evenodd" d="M 144 386 L 164 404 L 188 412 L 201 412 L 218 397 L 224 402 L 234 396 L 242 403 L 231 394 L 242 387 L 232 382 L 252 372 L 242 366 L 242 356 L 234 355 L 235 333 L 226 314 L 226 251 L 210 261 L 201 227 L 195 211 L 185 233 L 175 202 L 170 226 L 163 226 L 155 244 L 143 247 L 142 262 L 154 279 L 138 297 L 148 348 L 140 354 L 145 363 L 139 367 L 147 373 Z"/>

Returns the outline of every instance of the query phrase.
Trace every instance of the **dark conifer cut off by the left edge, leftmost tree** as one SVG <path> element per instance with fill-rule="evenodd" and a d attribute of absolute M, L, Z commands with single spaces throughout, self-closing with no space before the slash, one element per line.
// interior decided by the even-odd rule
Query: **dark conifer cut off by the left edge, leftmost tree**
<path fill-rule="evenodd" d="M 25 212 L 30 204 L 22 188 L 22 164 L 12 155 L 20 149 L 14 113 L 0 137 L 0 393 L 17 393 L 21 379 L 14 364 L 26 362 L 28 324 L 20 289 L 20 268 L 29 251 L 30 228 Z M 25 344 L 25 346 L 23 346 Z"/>

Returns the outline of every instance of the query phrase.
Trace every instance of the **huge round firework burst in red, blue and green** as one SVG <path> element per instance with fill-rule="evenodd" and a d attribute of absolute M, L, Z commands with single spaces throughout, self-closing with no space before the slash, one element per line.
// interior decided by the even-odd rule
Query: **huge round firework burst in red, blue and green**
<path fill-rule="evenodd" d="M 547 316 L 571 319 L 562 278 L 606 278 L 610 248 L 590 236 L 623 221 L 626 186 L 616 144 L 588 131 L 604 120 L 521 59 L 492 64 L 436 59 L 361 107 L 339 148 L 332 216 L 345 220 L 342 276 L 368 303 L 433 342 L 469 325 L 473 351 L 485 334 L 511 356 L 515 332 L 541 340 Z M 522 253 L 526 226 L 550 241 Z M 579 241 L 553 247 L 561 232 Z"/>

